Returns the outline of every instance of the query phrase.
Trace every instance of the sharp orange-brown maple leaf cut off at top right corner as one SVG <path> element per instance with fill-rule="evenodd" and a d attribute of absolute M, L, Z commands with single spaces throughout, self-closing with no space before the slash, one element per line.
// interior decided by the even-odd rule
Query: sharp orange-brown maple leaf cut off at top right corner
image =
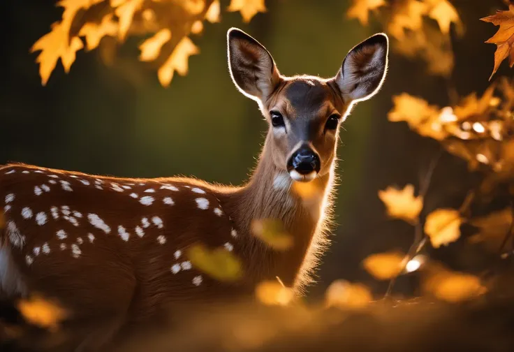
<path fill-rule="evenodd" d="M 491 80 L 494 73 L 502 61 L 508 58 L 508 64 L 514 66 L 514 5 L 509 6 L 508 10 L 498 10 L 495 15 L 481 18 L 484 22 L 490 22 L 495 26 L 499 26 L 497 33 L 494 34 L 485 43 L 492 43 L 497 45 L 497 50 L 494 52 L 494 68 L 489 80 Z"/>

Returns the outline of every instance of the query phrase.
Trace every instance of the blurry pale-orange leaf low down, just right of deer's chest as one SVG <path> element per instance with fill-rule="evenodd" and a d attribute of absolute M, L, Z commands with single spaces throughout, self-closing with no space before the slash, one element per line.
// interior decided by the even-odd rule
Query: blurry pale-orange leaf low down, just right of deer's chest
<path fill-rule="evenodd" d="M 346 280 L 333 281 L 325 292 L 328 307 L 342 309 L 360 309 L 372 302 L 373 295 L 369 288 L 362 284 L 351 284 Z"/>

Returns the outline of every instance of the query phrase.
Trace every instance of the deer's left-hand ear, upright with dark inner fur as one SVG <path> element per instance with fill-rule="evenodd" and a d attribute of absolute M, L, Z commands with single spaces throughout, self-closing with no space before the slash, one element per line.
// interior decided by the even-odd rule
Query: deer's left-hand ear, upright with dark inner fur
<path fill-rule="evenodd" d="M 265 101 L 280 81 L 270 52 L 240 29 L 229 29 L 227 37 L 228 68 L 235 86 L 245 96 Z"/>

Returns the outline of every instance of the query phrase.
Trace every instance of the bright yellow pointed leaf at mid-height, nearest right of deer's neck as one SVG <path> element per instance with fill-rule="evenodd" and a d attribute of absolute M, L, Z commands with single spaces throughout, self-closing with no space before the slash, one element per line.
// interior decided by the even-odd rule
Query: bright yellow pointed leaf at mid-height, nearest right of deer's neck
<path fill-rule="evenodd" d="M 423 197 L 414 197 L 414 186 L 407 184 L 404 189 L 389 186 L 385 191 L 379 191 L 379 198 L 386 205 L 388 215 L 415 223 L 423 209 Z"/>

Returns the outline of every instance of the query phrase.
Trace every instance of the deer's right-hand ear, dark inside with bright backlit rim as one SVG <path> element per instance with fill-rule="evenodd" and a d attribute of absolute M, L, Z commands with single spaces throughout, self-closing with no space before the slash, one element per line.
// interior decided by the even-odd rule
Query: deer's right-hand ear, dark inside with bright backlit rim
<path fill-rule="evenodd" d="M 388 51 L 388 36 L 375 34 L 348 52 L 335 76 L 344 101 L 365 101 L 379 91 L 386 78 Z"/>

